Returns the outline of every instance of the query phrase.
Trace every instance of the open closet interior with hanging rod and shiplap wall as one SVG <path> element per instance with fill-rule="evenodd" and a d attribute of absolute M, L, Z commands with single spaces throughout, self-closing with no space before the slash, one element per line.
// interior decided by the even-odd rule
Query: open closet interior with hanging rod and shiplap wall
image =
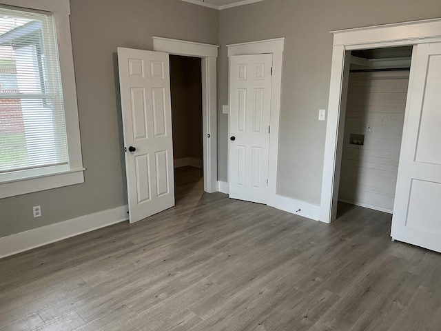
<path fill-rule="evenodd" d="M 341 202 L 393 213 L 412 49 L 348 51 L 337 217 Z"/>

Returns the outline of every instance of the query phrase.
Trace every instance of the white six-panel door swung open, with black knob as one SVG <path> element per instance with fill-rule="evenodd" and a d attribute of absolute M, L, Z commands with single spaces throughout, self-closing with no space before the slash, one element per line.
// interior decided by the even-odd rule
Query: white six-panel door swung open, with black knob
<path fill-rule="evenodd" d="M 174 206 L 167 53 L 118 48 L 130 223 Z"/>

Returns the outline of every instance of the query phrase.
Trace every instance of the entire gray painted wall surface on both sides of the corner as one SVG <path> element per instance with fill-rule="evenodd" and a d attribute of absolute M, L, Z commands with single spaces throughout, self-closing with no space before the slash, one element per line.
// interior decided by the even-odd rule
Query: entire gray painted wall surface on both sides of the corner
<path fill-rule="evenodd" d="M 152 36 L 222 46 L 218 105 L 228 103 L 227 43 L 287 37 L 278 193 L 320 203 L 332 36 L 329 31 L 441 17 L 439 0 L 265 0 L 220 12 L 179 0 L 71 0 L 85 183 L 0 200 L 0 237 L 127 202 L 114 52 Z M 221 109 L 221 108 L 219 108 Z M 218 112 L 218 177 L 227 180 L 227 115 Z M 32 218 L 32 205 L 43 217 Z"/>

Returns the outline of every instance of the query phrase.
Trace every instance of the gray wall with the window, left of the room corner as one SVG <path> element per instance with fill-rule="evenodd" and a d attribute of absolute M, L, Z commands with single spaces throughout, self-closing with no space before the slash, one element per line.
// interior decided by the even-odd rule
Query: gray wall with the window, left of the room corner
<path fill-rule="evenodd" d="M 117 47 L 152 50 L 153 36 L 218 42 L 217 10 L 179 0 L 70 2 L 85 183 L 1 199 L 0 237 L 127 203 Z"/>

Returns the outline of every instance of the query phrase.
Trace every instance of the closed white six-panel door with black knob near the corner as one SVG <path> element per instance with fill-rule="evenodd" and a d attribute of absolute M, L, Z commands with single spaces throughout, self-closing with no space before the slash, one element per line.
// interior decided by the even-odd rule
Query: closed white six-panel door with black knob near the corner
<path fill-rule="evenodd" d="M 267 203 L 272 54 L 230 57 L 229 197 Z"/>

